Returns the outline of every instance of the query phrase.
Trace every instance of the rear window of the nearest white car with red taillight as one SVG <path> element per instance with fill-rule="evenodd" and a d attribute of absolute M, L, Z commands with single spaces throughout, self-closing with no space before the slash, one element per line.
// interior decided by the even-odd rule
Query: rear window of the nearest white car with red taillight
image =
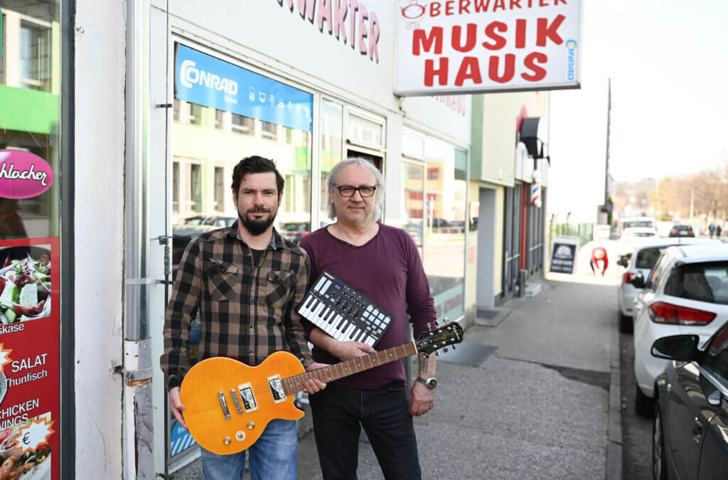
<path fill-rule="evenodd" d="M 686 264 L 678 267 L 665 284 L 665 295 L 698 302 L 728 304 L 728 262 Z"/>

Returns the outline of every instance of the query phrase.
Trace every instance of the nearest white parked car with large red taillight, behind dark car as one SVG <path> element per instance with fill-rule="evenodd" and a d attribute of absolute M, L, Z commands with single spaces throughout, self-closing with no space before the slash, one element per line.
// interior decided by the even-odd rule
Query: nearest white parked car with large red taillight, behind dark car
<path fill-rule="evenodd" d="M 635 409 L 652 415 L 654 379 L 668 361 L 651 355 L 652 344 L 670 335 L 697 335 L 702 347 L 728 321 L 728 245 L 669 247 L 644 279 L 635 302 L 634 370 L 637 382 Z"/>

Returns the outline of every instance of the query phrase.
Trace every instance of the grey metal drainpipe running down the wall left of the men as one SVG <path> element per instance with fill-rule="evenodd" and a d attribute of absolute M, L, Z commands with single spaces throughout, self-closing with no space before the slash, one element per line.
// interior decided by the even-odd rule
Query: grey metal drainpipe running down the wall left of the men
<path fill-rule="evenodd" d="M 122 455 L 125 480 L 153 479 L 149 337 L 149 0 L 127 0 Z"/>

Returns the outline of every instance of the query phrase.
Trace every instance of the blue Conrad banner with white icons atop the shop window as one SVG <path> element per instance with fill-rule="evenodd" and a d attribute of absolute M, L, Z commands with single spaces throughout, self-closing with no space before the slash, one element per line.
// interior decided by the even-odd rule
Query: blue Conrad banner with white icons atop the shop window
<path fill-rule="evenodd" d="M 314 96 L 178 44 L 175 98 L 310 132 Z"/>

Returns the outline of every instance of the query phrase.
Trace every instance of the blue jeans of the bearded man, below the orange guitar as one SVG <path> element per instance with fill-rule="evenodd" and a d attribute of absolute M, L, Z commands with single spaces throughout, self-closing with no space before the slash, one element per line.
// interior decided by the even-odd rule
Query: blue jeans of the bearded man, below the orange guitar
<path fill-rule="evenodd" d="M 202 447 L 202 471 L 207 480 L 242 479 L 245 452 L 250 452 L 250 478 L 253 480 L 296 480 L 296 420 L 272 420 L 247 450 L 217 455 Z"/>

